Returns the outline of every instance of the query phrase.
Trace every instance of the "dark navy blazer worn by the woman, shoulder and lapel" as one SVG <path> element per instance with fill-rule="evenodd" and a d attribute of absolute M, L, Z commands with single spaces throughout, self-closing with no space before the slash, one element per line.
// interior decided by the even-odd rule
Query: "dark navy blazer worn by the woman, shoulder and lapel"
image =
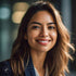
<path fill-rule="evenodd" d="M 0 76 L 14 76 L 9 61 L 0 62 Z M 25 68 L 25 76 L 36 76 L 31 58 L 29 58 L 28 65 Z"/>

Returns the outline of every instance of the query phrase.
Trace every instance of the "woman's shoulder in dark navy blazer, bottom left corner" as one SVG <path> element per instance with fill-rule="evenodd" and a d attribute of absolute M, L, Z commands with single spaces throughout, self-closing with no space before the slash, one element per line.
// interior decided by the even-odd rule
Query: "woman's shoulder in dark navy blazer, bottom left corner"
<path fill-rule="evenodd" d="M 9 60 L 0 62 L 0 76 L 13 76 Z"/>

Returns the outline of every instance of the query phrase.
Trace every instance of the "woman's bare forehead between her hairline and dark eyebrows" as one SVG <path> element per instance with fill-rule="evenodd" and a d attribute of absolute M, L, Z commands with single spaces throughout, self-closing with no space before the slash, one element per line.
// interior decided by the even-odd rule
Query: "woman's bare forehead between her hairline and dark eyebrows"
<path fill-rule="evenodd" d="M 38 21 L 38 22 L 54 22 L 53 15 L 48 11 L 38 11 L 34 14 L 30 22 Z"/>

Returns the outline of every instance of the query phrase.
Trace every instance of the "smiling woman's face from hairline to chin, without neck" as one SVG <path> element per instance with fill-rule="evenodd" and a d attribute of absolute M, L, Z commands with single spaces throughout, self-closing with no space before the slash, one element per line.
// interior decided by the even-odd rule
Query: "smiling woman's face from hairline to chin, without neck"
<path fill-rule="evenodd" d="M 48 52 L 51 50 L 58 38 L 56 26 L 52 14 L 48 11 L 37 12 L 28 23 L 27 36 L 30 50 Z"/>

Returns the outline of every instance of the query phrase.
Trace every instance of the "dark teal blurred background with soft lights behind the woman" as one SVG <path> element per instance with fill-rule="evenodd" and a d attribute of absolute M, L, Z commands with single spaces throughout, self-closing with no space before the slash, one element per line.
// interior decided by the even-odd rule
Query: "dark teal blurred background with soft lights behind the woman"
<path fill-rule="evenodd" d="M 16 38 L 21 20 L 28 7 L 37 0 L 0 0 L 0 62 L 10 59 L 13 41 Z M 68 28 L 71 41 L 76 48 L 76 3 L 75 0 L 47 0 L 54 4 Z M 74 61 L 68 63 L 71 73 L 76 76 L 76 52 Z"/>

